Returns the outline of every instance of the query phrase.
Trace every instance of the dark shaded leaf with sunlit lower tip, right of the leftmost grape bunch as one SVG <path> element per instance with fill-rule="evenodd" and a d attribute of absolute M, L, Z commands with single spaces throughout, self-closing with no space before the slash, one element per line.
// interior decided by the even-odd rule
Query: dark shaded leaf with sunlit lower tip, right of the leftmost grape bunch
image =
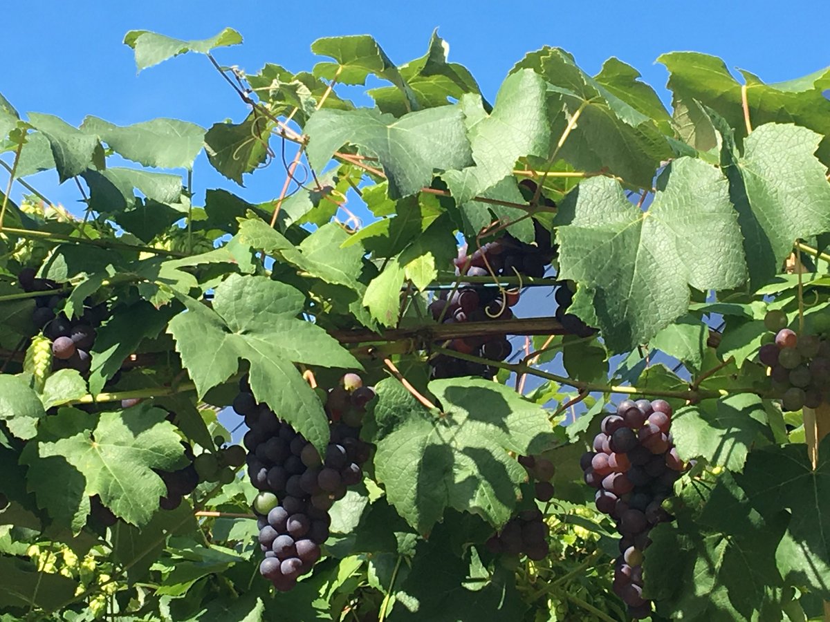
<path fill-rule="evenodd" d="M 95 344 L 90 349 L 90 393 L 100 393 L 141 340 L 156 337 L 172 315 L 172 309 L 156 309 L 144 300 L 120 307 L 115 317 L 97 329 Z"/>

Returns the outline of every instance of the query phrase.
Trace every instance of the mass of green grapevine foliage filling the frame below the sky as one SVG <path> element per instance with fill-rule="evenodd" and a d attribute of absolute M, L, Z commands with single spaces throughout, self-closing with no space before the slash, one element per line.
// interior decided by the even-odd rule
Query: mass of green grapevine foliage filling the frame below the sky
<path fill-rule="evenodd" d="M 759 348 L 769 309 L 799 339 L 830 326 L 827 70 L 774 85 L 743 71 L 742 88 L 720 59 L 666 54 L 670 111 L 623 61 L 592 76 L 545 47 L 491 105 L 434 32 L 403 64 L 372 36 L 320 39 L 297 73 L 213 59 L 241 41 L 125 36 L 139 71 L 196 52 L 240 86 L 246 116 L 207 130 L 76 128 L 0 95 L 8 169 L 88 190 L 83 218 L 0 195 L 0 619 L 628 620 L 618 534 L 579 462 L 603 412 L 660 396 L 687 468 L 645 551 L 652 620 L 819 620 L 830 406 L 783 411 Z M 374 106 L 345 99 L 369 80 Z M 271 134 L 294 143 L 294 179 L 264 201 L 232 193 L 281 165 Z M 232 191 L 193 192 L 202 148 Z M 550 249 L 533 304 L 510 268 L 457 275 L 458 246 L 491 241 L 514 267 L 520 243 Z M 515 274 L 542 274 L 527 264 Z M 487 302 L 523 289 L 513 328 L 491 323 L 500 304 L 434 321 L 437 290 L 467 278 Z M 508 362 L 478 356 L 511 331 Z M 89 371 L 61 368 L 56 334 L 93 332 Z M 483 371 L 444 377 L 447 352 Z M 376 389 L 364 479 L 290 593 L 256 573 L 246 474 L 160 507 L 191 451 L 215 463 L 245 433 L 221 412 L 242 377 L 325 450 L 323 390 L 354 370 Z M 554 466 L 550 502 L 533 499 L 529 455 Z M 486 546 L 536 509 L 543 559 Z"/>

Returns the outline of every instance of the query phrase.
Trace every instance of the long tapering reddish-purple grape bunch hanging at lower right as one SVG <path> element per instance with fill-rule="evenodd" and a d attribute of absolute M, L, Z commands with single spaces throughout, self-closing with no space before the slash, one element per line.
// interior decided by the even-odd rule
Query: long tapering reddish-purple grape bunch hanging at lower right
<path fill-rule="evenodd" d="M 669 429 L 671 406 L 665 400 L 624 400 L 616 415 L 603 419 L 593 451 L 580 466 L 585 483 L 598 488 L 597 509 L 617 522 L 621 556 L 614 564 L 613 590 L 634 618 L 651 615 L 651 601 L 642 598 L 642 559 L 658 522 L 671 520 L 662 507 L 685 468 Z"/>

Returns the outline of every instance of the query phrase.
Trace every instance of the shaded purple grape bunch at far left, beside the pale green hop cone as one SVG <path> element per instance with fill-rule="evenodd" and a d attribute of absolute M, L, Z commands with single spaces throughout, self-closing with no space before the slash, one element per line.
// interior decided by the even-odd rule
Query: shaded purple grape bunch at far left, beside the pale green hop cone
<path fill-rule="evenodd" d="M 35 270 L 24 268 L 17 275 L 17 280 L 24 291 L 49 292 L 58 289 L 58 284 L 51 279 L 37 278 Z M 35 328 L 43 329 L 43 335 L 52 343 L 52 369 L 75 369 L 78 372 L 90 371 L 90 348 L 95 343 L 95 328 L 109 314 L 106 304 L 85 305 L 81 317 L 69 319 L 58 309 L 66 299 L 66 294 L 43 295 L 35 299 L 37 305 L 32 312 Z"/>

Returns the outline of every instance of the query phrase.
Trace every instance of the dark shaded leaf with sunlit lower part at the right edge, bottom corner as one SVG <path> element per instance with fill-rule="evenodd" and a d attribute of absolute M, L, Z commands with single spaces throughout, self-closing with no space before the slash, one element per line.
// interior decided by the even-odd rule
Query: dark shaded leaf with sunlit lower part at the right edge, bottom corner
<path fill-rule="evenodd" d="M 830 596 L 830 437 L 818 447 L 813 469 L 807 445 L 765 447 L 750 452 L 738 482 L 764 518 L 782 508 L 792 514 L 776 561 L 782 574 Z"/>

